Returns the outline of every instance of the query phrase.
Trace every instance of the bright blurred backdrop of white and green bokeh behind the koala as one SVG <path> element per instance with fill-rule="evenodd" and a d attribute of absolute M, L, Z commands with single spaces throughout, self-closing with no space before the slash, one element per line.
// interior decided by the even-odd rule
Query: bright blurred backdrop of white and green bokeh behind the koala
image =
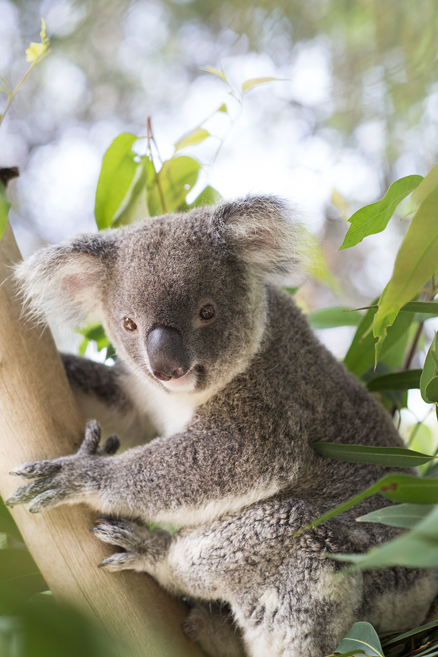
<path fill-rule="evenodd" d="M 188 149 L 204 165 L 197 191 L 208 183 L 227 198 L 276 193 L 297 205 L 335 277 L 306 283 L 304 307 L 358 307 L 382 292 L 403 204 L 384 233 L 337 249 L 357 208 L 437 162 L 435 0 L 0 0 L 0 76 L 12 87 L 40 16 L 51 53 L 0 129 L 1 166 L 20 167 L 11 222 L 24 256 L 96 230 L 102 155 L 122 131 L 146 135 L 150 116 L 163 159 L 197 125 L 215 135 Z M 208 65 L 237 96 L 248 78 L 278 81 L 240 104 Z M 354 330 L 320 334 L 342 357 Z M 416 417 L 429 410 L 417 392 Z"/>

